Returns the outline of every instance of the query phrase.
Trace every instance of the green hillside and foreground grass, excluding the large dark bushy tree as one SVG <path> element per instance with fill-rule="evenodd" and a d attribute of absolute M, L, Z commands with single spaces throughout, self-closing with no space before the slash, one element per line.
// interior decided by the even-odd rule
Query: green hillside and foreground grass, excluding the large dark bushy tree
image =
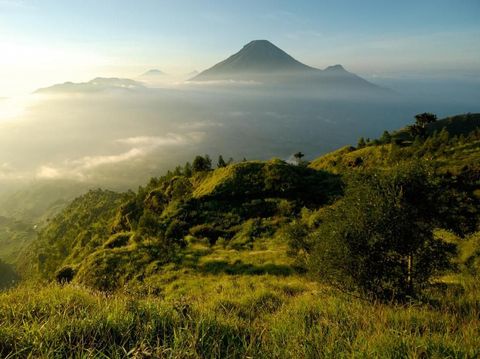
<path fill-rule="evenodd" d="M 345 147 L 311 168 L 249 161 L 183 182 L 166 176 L 136 195 L 90 191 L 42 230 L 19 265 L 50 280 L 58 268 L 71 267 L 73 282 L 24 282 L 0 292 L 0 357 L 480 357 L 478 232 L 460 239 L 436 231 L 459 244 L 458 271 L 399 305 L 372 303 L 308 277 L 287 256 L 279 231 L 300 213 L 317 221 L 306 208 L 321 213 L 341 195 L 337 174 L 391 169 L 414 158 L 475 174 L 477 137 L 433 145 L 439 139 Z M 475 181 L 467 181 L 473 207 L 480 198 Z M 155 241 L 166 237 L 151 238 L 159 230 L 182 238 L 172 253 Z M 0 268 L 0 279 L 11 269 Z"/>

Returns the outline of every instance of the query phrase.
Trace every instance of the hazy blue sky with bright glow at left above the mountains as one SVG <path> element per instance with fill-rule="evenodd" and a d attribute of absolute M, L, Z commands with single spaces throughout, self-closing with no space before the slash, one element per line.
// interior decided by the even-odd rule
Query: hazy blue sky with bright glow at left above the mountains
<path fill-rule="evenodd" d="M 0 98 L 203 70 L 253 39 L 362 75 L 480 73 L 479 0 L 0 0 Z"/>

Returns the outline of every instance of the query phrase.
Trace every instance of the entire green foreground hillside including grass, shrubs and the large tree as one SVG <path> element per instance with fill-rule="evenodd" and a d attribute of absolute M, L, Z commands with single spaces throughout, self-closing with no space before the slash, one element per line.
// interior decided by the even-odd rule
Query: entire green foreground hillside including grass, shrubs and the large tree
<path fill-rule="evenodd" d="M 480 356 L 478 129 L 309 166 L 201 160 L 52 218 L 19 263 L 30 281 L 0 293 L 0 356 Z M 328 280 L 365 268 L 386 293 L 421 286 L 386 299 Z"/>

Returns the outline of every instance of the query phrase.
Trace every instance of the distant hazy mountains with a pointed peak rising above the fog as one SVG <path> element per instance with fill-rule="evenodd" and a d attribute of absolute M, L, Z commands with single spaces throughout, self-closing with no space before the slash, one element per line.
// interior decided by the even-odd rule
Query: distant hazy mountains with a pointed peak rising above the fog
<path fill-rule="evenodd" d="M 135 90 L 148 84 L 173 82 L 168 74 L 151 69 L 135 81 L 126 78 L 98 77 L 88 82 L 65 82 L 41 88 L 35 93 L 56 92 L 98 92 L 112 89 Z M 185 79 L 185 77 L 184 77 Z M 182 79 L 182 81 L 184 80 Z M 336 64 L 324 70 L 311 67 L 296 60 L 268 40 L 254 40 L 243 46 L 237 53 L 211 68 L 186 75 L 187 81 L 199 84 L 206 82 L 261 83 L 281 85 L 281 88 L 320 91 L 327 96 L 349 95 L 391 95 L 393 92 L 377 86 Z"/>

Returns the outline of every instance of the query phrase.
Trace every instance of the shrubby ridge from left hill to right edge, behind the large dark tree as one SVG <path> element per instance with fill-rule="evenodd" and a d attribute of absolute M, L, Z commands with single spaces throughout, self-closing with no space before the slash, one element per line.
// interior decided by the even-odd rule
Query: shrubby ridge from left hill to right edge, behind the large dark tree
<path fill-rule="evenodd" d="M 138 193 L 90 191 L 40 232 L 21 267 L 46 278 L 66 267 L 67 273 L 77 273 L 76 281 L 114 290 L 186 260 L 198 241 L 250 250 L 258 241 L 281 236 L 286 223 L 339 199 L 352 171 L 388 171 L 418 160 L 438 170 L 445 188 L 457 193 L 448 209 L 458 214 L 452 228 L 472 231 L 480 200 L 480 132 L 463 140 L 445 136 L 432 135 L 421 144 L 345 147 L 314 160 L 310 168 L 281 160 L 194 173 L 187 166 L 189 171 L 179 167 L 152 178 Z"/>

